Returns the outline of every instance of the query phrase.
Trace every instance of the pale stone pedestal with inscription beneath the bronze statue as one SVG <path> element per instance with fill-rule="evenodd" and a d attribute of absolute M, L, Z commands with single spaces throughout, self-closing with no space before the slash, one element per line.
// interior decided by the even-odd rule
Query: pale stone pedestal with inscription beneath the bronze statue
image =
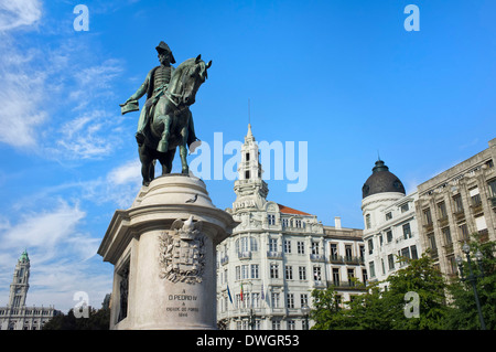
<path fill-rule="evenodd" d="M 110 329 L 216 329 L 215 248 L 236 225 L 197 178 L 143 186 L 98 249 L 115 266 Z"/>

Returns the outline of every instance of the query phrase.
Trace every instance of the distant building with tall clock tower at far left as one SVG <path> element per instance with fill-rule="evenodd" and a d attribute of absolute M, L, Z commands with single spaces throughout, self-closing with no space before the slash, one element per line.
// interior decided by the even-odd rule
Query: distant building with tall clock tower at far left
<path fill-rule="evenodd" d="M 41 330 L 45 322 L 60 313 L 53 307 L 25 306 L 29 278 L 30 258 L 24 250 L 15 265 L 9 303 L 0 307 L 0 330 Z"/>

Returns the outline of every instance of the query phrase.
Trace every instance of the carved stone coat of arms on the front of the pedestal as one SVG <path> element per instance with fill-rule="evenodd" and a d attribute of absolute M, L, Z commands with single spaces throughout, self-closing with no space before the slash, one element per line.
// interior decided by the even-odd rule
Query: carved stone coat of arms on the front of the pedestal
<path fill-rule="evenodd" d="M 205 268 L 205 235 L 203 222 L 193 216 L 183 222 L 176 220 L 171 231 L 160 237 L 161 278 L 172 282 L 202 282 Z"/>

